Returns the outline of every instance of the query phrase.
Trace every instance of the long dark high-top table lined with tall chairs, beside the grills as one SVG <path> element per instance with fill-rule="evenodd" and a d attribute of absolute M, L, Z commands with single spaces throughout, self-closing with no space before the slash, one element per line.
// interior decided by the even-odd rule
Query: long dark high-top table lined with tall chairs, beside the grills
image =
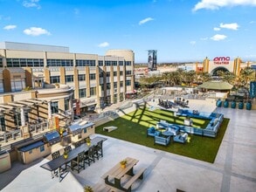
<path fill-rule="evenodd" d="M 91 145 L 90 146 L 96 146 L 100 141 L 106 141 L 107 138 L 97 136 L 91 140 Z M 66 166 L 67 163 L 75 159 L 78 154 L 81 152 L 86 152 L 88 151 L 89 147 L 86 143 L 80 145 L 80 147 L 74 148 L 72 151 L 68 153 L 67 158 L 64 158 L 63 154 L 60 155 L 58 158 L 53 159 L 51 161 L 46 162 L 45 164 L 41 165 L 41 168 L 45 168 L 46 170 L 49 170 L 51 172 L 58 170 L 58 176 L 59 176 L 59 182 L 61 182 L 61 167 Z M 52 174 L 52 178 L 54 177 L 54 174 Z"/>

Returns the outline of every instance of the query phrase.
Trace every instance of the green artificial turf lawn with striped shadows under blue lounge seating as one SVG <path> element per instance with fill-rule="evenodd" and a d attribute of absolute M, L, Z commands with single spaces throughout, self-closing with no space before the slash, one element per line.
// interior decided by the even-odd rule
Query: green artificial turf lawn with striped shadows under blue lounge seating
<path fill-rule="evenodd" d="M 96 134 L 104 134 L 123 141 L 130 141 L 143 146 L 213 163 L 218 153 L 218 147 L 224 137 L 229 119 L 223 120 L 216 138 L 189 134 L 187 143 L 182 144 L 171 141 L 170 146 L 165 147 L 154 145 L 154 138 L 147 137 L 147 129 L 152 126 L 156 127 L 156 122 L 166 120 L 170 123 L 183 124 L 183 119 L 183 117 L 175 117 L 170 111 L 161 109 L 149 111 L 148 108 L 143 107 L 135 110 L 135 112 L 125 114 L 120 118 L 96 127 L 95 132 Z M 206 127 L 209 123 L 209 120 L 192 120 L 193 125 L 202 128 Z M 108 126 L 115 126 L 118 128 L 112 132 L 103 131 L 103 127 Z"/>

